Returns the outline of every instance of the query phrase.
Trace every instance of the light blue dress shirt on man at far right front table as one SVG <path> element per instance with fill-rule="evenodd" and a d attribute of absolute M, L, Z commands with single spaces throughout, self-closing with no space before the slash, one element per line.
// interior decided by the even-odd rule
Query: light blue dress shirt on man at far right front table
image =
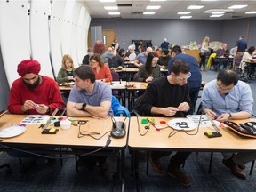
<path fill-rule="evenodd" d="M 215 112 L 217 117 L 223 113 L 240 111 L 252 114 L 252 91 L 248 84 L 238 81 L 228 94 L 220 94 L 217 90 L 217 80 L 213 80 L 204 86 L 202 105 L 203 108 L 209 108 Z"/>

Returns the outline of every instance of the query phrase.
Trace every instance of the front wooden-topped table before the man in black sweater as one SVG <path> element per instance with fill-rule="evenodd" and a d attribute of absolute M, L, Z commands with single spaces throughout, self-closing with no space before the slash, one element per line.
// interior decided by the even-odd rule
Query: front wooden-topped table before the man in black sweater
<path fill-rule="evenodd" d="M 172 117 L 153 117 L 156 126 L 162 128 L 156 129 L 153 125 L 149 126 L 148 132 L 145 126 L 141 124 L 142 119 L 151 119 L 151 117 L 132 117 L 130 120 L 130 132 L 128 139 L 128 148 L 132 151 L 132 167 L 135 176 L 137 191 L 140 191 L 140 178 L 138 172 L 137 152 L 138 150 L 167 150 L 167 151 L 207 151 L 207 152 L 239 152 L 239 151 L 256 151 L 256 140 L 245 138 L 231 131 L 227 125 L 220 127 L 222 137 L 208 138 L 204 132 L 214 132 L 212 125 L 199 126 L 195 130 L 188 131 L 173 131 L 168 127 L 168 122 Z M 164 122 L 165 124 L 164 124 Z M 180 122 L 182 118 L 180 118 Z M 233 121 L 233 120 L 232 120 Z M 255 122 L 255 118 L 234 120 L 236 124 L 245 122 Z M 138 126 L 139 124 L 139 126 Z M 139 132 L 140 130 L 140 132 Z M 147 133 L 146 133 L 147 132 Z M 196 133 L 197 132 L 197 133 Z M 145 134 L 141 136 L 141 134 Z M 172 133 L 172 136 L 169 135 Z M 195 134 L 195 135 L 194 135 Z M 189 157 L 188 157 L 189 158 Z"/>

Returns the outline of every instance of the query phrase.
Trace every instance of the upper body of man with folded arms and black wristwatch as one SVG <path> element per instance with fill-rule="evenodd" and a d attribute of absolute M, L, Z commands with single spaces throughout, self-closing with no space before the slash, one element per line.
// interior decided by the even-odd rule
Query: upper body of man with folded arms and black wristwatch
<path fill-rule="evenodd" d="M 92 116 L 105 118 L 113 116 L 111 109 L 112 92 L 108 84 L 95 81 L 90 66 L 80 66 L 75 72 L 75 86 L 68 103 L 68 116 Z"/>

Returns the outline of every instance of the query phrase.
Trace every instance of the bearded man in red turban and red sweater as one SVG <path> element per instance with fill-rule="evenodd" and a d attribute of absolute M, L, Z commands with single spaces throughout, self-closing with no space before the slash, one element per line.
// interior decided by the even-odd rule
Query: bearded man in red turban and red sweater
<path fill-rule="evenodd" d="M 20 78 L 12 83 L 8 110 L 12 114 L 52 114 L 55 108 L 65 108 L 56 82 L 38 75 L 37 60 L 22 60 L 17 72 Z"/>

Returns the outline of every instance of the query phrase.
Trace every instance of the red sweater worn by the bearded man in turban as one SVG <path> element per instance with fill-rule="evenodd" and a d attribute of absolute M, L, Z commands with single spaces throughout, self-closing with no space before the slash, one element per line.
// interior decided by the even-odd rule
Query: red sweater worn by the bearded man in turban
<path fill-rule="evenodd" d="M 55 108 L 65 108 L 58 84 L 48 76 L 42 76 L 42 83 L 35 89 L 29 89 L 22 78 L 12 83 L 8 110 L 12 114 L 24 114 L 21 106 L 26 100 L 32 100 L 36 104 L 44 104 L 50 107 L 50 114 Z M 28 110 L 27 114 L 38 114 L 36 109 Z"/>

